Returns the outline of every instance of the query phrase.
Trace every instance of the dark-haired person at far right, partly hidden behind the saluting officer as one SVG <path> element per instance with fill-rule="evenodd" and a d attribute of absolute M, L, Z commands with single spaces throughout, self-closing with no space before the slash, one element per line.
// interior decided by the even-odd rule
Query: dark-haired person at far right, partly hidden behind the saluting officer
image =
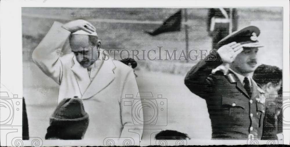
<path fill-rule="evenodd" d="M 264 127 L 262 139 L 276 138 L 278 133 L 282 133 L 278 127 L 282 120 L 278 120 L 279 115 L 282 115 L 282 101 L 279 100 L 280 89 L 282 85 L 282 70 L 279 67 L 271 65 L 260 65 L 255 69 L 253 80 L 264 91 L 264 98 L 266 106 L 266 114 L 264 118 Z M 273 98 L 276 99 L 273 101 Z M 267 100 L 270 99 L 270 100 Z"/>

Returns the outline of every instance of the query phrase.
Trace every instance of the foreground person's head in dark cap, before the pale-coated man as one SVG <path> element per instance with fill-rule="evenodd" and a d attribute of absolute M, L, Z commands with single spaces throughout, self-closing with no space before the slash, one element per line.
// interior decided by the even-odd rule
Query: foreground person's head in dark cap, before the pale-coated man
<path fill-rule="evenodd" d="M 89 116 L 79 98 L 62 100 L 50 117 L 45 139 L 83 139 Z"/>

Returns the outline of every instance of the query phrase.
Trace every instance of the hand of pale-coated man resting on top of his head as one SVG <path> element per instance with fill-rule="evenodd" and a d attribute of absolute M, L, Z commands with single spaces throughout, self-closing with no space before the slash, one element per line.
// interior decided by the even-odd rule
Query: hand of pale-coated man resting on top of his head
<path fill-rule="evenodd" d="M 96 28 L 91 23 L 82 19 L 70 21 L 64 24 L 62 27 L 72 33 L 78 30 L 84 30 L 88 33 L 93 33 L 96 30 Z"/>

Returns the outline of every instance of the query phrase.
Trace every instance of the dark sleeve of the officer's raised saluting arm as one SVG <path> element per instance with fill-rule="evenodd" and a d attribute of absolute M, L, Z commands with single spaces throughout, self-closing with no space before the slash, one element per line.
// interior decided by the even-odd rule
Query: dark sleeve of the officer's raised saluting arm
<path fill-rule="evenodd" d="M 189 90 L 201 98 L 208 98 L 215 84 L 211 71 L 222 64 L 215 50 L 211 50 L 205 60 L 201 60 L 187 73 L 184 84 Z"/>

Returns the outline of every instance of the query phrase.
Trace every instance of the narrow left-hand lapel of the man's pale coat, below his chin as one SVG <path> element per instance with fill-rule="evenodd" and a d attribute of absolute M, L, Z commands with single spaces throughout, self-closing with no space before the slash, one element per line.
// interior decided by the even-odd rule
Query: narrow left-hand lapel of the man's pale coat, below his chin
<path fill-rule="evenodd" d="M 71 70 L 75 74 L 75 79 L 77 80 L 77 84 L 79 86 L 79 90 L 81 92 L 81 95 L 84 94 L 87 87 L 90 84 L 90 77 L 88 75 L 88 69 L 82 67 L 76 60 L 75 56 L 73 56 L 73 66 L 71 67 Z"/>

